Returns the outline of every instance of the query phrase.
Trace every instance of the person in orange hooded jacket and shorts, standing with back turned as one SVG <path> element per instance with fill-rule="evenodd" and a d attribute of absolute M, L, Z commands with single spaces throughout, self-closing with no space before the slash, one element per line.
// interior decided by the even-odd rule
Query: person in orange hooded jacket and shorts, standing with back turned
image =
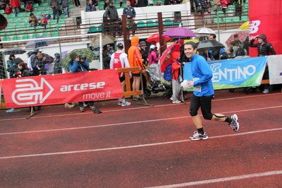
<path fill-rule="evenodd" d="M 132 37 L 131 38 L 131 47 L 129 47 L 128 50 L 128 60 L 131 67 L 133 66 L 141 66 L 142 73 L 145 73 L 146 70 L 143 67 L 143 60 L 141 56 L 141 52 L 139 50 L 139 37 Z M 132 83 L 132 90 L 140 90 L 140 71 L 132 71 L 131 72 L 133 76 L 133 83 Z M 141 97 L 139 95 L 134 95 L 133 100 L 141 100 Z"/>

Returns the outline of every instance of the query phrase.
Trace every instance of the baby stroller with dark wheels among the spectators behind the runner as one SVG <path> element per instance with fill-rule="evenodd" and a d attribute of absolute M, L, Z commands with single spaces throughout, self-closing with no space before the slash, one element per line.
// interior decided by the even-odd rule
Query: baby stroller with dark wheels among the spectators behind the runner
<path fill-rule="evenodd" d="M 146 97 L 150 96 L 151 93 L 159 93 L 161 91 L 165 91 L 163 93 L 163 98 L 168 99 L 172 96 L 172 86 L 171 82 L 165 81 L 160 74 L 160 67 L 158 64 L 151 64 L 146 69 L 150 86 L 147 86 L 144 90 L 144 95 Z"/>

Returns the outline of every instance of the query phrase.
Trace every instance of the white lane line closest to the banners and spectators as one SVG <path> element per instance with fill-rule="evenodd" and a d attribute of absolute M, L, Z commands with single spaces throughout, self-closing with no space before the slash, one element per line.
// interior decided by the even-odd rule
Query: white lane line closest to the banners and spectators
<path fill-rule="evenodd" d="M 271 95 L 282 95 L 282 93 L 272 93 Z M 245 97 L 239 97 L 239 98 L 223 98 L 223 99 L 213 99 L 213 101 L 221 101 L 221 100 L 238 100 L 238 99 L 243 99 L 243 98 L 257 98 L 257 97 L 266 97 L 266 95 L 248 95 Z M 189 104 L 190 102 L 187 102 Z M 184 105 L 183 103 L 180 104 L 167 104 L 167 105 L 154 105 L 154 107 L 166 107 L 166 106 L 172 106 L 172 105 Z M 131 108 L 122 108 L 122 109 L 113 109 L 113 110 L 105 110 L 102 111 L 104 112 L 117 112 L 117 111 L 124 111 L 124 110 L 139 110 L 143 108 L 149 108 L 148 106 L 145 107 L 131 107 Z M 52 115 L 44 115 L 40 116 L 37 114 L 36 116 L 33 117 L 33 119 L 36 118 L 49 118 L 49 117 L 64 117 L 64 116 L 73 116 L 73 115 L 84 115 L 84 114 L 93 114 L 93 112 L 84 112 L 84 113 L 74 113 L 74 114 L 52 114 Z M 9 120 L 17 120 L 17 119 L 26 119 L 25 117 L 19 117 L 19 118 L 11 118 L 11 119 L 0 119 L 0 122 L 2 121 L 9 121 Z"/>

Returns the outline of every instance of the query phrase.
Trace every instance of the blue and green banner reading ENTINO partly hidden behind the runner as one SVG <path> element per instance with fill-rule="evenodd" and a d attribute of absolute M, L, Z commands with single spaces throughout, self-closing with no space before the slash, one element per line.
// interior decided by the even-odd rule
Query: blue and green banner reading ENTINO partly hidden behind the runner
<path fill-rule="evenodd" d="M 213 72 L 213 88 L 228 89 L 259 86 L 268 57 L 208 61 Z M 185 63 L 184 80 L 192 81 L 191 63 Z"/>

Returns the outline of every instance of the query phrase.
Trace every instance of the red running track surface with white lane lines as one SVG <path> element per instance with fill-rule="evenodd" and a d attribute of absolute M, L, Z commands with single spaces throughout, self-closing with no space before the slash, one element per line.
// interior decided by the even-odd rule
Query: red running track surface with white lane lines
<path fill-rule="evenodd" d="M 212 112 L 236 113 L 240 130 L 203 120 L 205 141 L 189 141 L 189 100 L 0 110 L 0 187 L 282 187 L 282 93 L 215 96 Z"/>

